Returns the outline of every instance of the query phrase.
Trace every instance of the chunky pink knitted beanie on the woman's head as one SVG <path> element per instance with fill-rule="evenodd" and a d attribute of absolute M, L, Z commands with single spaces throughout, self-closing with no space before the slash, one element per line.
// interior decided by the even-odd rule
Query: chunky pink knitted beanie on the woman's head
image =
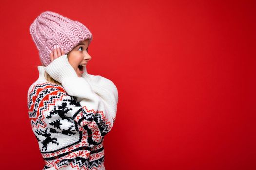
<path fill-rule="evenodd" d="M 92 33 L 79 21 L 73 21 L 58 13 L 45 11 L 30 25 L 30 34 L 39 50 L 40 61 L 43 66 L 51 63 L 50 50 L 54 45 L 69 53 L 81 41 L 92 41 Z"/>

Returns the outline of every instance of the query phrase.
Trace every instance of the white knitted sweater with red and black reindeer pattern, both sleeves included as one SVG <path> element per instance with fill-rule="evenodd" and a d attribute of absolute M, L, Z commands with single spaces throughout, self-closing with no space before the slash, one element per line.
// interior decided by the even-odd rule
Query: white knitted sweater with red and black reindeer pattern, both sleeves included
<path fill-rule="evenodd" d="M 78 77 L 67 55 L 37 68 L 27 99 L 43 170 L 104 170 L 103 141 L 116 119 L 116 86 L 86 68 Z M 62 85 L 47 82 L 45 71 Z"/>

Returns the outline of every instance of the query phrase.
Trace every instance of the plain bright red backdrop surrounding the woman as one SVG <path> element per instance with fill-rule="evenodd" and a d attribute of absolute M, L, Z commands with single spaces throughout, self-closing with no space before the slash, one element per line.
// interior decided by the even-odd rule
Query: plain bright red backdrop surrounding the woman
<path fill-rule="evenodd" d="M 255 0 L 1 0 L 2 170 L 41 170 L 27 113 L 43 11 L 92 32 L 88 72 L 118 88 L 107 170 L 255 170 Z"/>

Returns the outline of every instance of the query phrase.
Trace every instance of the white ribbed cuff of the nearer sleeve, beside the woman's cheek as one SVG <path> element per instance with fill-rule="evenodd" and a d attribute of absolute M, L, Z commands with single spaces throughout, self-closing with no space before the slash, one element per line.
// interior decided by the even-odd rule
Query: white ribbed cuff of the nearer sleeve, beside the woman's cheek
<path fill-rule="evenodd" d="M 64 78 L 78 77 L 76 71 L 68 61 L 67 54 L 53 60 L 48 66 L 45 67 L 45 71 L 54 80 L 58 81 L 61 84 Z"/>

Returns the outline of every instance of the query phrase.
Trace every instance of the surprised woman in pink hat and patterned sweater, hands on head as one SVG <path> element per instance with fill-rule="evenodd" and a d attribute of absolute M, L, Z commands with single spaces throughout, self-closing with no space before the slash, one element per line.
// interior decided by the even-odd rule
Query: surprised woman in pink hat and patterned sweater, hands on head
<path fill-rule="evenodd" d="M 87 73 L 92 34 L 78 21 L 43 12 L 30 26 L 42 66 L 28 89 L 43 170 L 105 170 L 104 137 L 116 119 L 118 91 Z"/>

